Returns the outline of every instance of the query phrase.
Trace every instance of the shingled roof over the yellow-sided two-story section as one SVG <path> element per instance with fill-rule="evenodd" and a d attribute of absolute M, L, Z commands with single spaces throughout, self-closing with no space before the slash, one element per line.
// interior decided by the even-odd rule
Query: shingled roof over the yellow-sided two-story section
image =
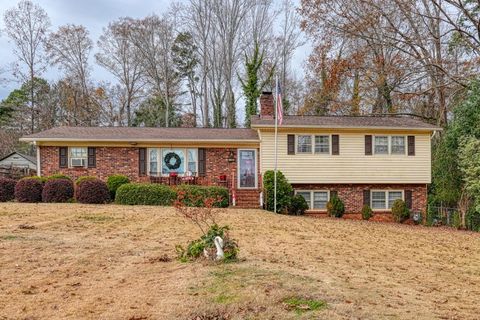
<path fill-rule="evenodd" d="M 252 127 L 274 126 L 272 118 L 252 117 Z M 442 128 L 418 119 L 400 116 L 284 116 L 282 127 L 420 129 Z"/>

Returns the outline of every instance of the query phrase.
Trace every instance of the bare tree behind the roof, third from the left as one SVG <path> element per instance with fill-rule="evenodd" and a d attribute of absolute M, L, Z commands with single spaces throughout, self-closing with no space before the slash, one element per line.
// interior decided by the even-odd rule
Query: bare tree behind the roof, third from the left
<path fill-rule="evenodd" d="M 99 65 L 108 70 L 123 87 L 127 126 L 132 125 L 132 104 L 138 99 L 144 82 L 142 81 L 142 61 L 136 56 L 136 48 L 130 41 L 133 20 L 122 18 L 110 23 L 100 36 L 95 55 Z"/>

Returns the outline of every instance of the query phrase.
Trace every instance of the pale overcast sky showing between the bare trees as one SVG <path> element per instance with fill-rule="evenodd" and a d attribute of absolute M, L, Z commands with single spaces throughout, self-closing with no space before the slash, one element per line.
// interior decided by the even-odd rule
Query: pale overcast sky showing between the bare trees
<path fill-rule="evenodd" d="M 129 16 L 132 18 L 145 17 L 152 13 L 161 14 L 167 10 L 171 1 L 167 0 L 37 0 L 38 3 L 48 13 L 52 22 L 52 30 L 59 26 L 73 23 L 84 25 L 90 32 L 90 36 L 96 44 L 102 28 L 106 27 L 110 21 L 119 17 Z M 295 2 L 299 2 L 296 0 Z M 18 2 L 15 0 L 0 0 L 0 28 L 4 28 L 3 15 L 5 10 L 15 6 Z M 94 49 L 95 51 L 96 49 Z M 293 70 L 301 72 L 303 61 L 308 56 L 308 45 L 299 48 L 293 61 Z M 12 46 L 6 34 L 0 36 L 0 66 L 8 65 L 15 61 L 12 55 Z M 92 78 L 96 81 L 111 80 L 109 74 L 93 62 L 93 54 L 90 57 L 93 68 Z M 49 80 L 58 78 L 59 72 L 56 69 L 50 69 L 44 77 Z M 3 74 L 2 77 L 13 80 L 12 76 Z M 19 86 L 14 81 L 2 83 L 0 85 L 0 99 L 4 99 L 8 93 Z"/>

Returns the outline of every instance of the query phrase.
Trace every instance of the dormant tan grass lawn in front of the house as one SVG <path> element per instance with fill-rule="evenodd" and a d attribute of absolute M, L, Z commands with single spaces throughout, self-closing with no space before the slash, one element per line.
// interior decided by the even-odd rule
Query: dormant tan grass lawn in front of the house
<path fill-rule="evenodd" d="M 172 208 L 0 204 L 0 319 L 478 319 L 480 234 L 224 210 L 241 261 L 180 263 Z"/>

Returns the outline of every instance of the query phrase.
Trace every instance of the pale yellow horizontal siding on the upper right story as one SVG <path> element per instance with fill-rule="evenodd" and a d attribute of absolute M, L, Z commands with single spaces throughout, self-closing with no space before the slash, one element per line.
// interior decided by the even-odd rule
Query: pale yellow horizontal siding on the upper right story
<path fill-rule="evenodd" d="M 278 133 L 278 169 L 291 183 L 430 183 L 430 133 L 308 131 L 308 134 L 339 134 L 340 155 L 287 154 L 287 134 L 305 134 L 305 130 Z M 365 135 L 415 135 L 415 156 L 365 155 Z M 405 141 L 405 147 L 407 147 Z M 274 168 L 274 132 L 262 130 L 260 169 L 263 174 Z M 372 146 L 373 147 L 373 146 Z M 296 151 L 296 150 L 295 150 Z"/>

